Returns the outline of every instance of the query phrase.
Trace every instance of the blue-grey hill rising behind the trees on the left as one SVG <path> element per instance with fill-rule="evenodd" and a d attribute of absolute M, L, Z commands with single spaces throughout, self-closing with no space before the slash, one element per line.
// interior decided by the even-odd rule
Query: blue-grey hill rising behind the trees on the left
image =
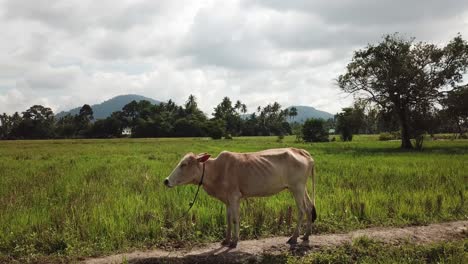
<path fill-rule="evenodd" d="M 150 101 L 152 104 L 159 104 L 161 103 L 160 101 L 158 100 L 154 100 L 154 99 L 151 99 L 151 98 L 148 98 L 148 97 L 145 97 L 145 96 L 142 96 L 142 95 L 137 95 L 137 94 L 126 94 L 126 95 L 119 95 L 119 96 L 116 96 L 116 97 L 113 97 L 107 101 L 104 101 L 100 104 L 94 104 L 91 106 L 91 108 L 93 109 L 93 113 L 94 113 L 94 119 L 104 119 L 108 116 L 110 116 L 112 114 L 112 112 L 115 112 L 115 111 L 120 111 L 122 110 L 122 108 L 130 103 L 131 101 L 142 101 L 142 100 L 147 100 L 147 101 Z M 63 117 L 67 114 L 71 114 L 71 115 L 77 115 L 79 114 L 80 112 L 80 109 L 81 109 L 81 106 L 80 107 L 77 107 L 77 108 L 73 108 L 69 111 L 62 111 L 60 113 L 58 113 L 55 117 L 56 118 L 60 118 L 60 117 Z"/>

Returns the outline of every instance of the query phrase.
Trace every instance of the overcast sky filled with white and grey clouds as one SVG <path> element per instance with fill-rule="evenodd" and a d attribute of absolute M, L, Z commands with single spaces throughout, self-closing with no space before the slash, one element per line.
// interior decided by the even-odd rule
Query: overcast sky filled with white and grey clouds
<path fill-rule="evenodd" d="M 468 38 L 468 1 L 0 0 L 0 113 L 129 93 L 335 113 L 352 102 L 334 79 L 353 50 L 393 32 Z"/>

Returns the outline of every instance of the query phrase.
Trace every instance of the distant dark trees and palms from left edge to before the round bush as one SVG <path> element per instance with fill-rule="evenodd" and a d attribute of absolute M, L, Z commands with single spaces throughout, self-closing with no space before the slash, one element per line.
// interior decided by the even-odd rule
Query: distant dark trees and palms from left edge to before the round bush
<path fill-rule="evenodd" d="M 225 97 L 208 118 L 190 95 L 183 106 L 169 100 L 152 104 L 132 101 L 105 119 L 94 120 L 93 110 L 84 105 L 79 114 L 56 119 L 50 108 L 34 105 L 22 114 L 0 116 L 0 139 L 111 138 L 122 137 L 212 137 L 285 135 L 291 133 L 288 120 L 295 108 L 282 109 L 278 103 L 258 107 L 247 116 L 245 104 Z"/>

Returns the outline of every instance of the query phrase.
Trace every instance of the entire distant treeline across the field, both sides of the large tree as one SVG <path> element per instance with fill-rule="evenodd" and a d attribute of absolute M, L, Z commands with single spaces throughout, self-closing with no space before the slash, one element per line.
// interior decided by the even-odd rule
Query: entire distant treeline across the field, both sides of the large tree
<path fill-rule="evenodd" d="M 457 96 L 456 98 L 452 98 Z M 464 107 L 467 96 L 463 93 L 448 97 L 443 107 L 425 116 L 427 133 L 463 133 L 463 125 L 456 109 Z M 449 100 L 451 99 L 451 100 Z M 466 108 L 466 106 L 465 106 Z M 455 110 L 454 110 L 455 109 Z M 258 107 L 247 115 L 247 107 L 240 101 L 233 103 L 225 97 L 207 117 L 190 95 L 183 106 L 169 100 L 152 104 L 149 101 L 132 101 L 121 111 L 105 119 L 94 120 L 92 108 L 85 104 L 77 115 L 56 119 L 52 110 L 34 105 L 26 111 L 0 115 L 0 139 L 52 139 L 52 138 L 114 138 L 114 137 L 212 137 L 270 136 L 295 134 L 298 140 L 327 141 L 328 132 L 334 129 L 343 140 L 352 134 L 376 134 L 398 131 L 395 113 L 365 100 L 357 100 L 352 107 L 344 108 L 329 120 L 308 120 L 304 125 L 294 121 L 297 110 L 282 109 L 277 102 Z M 421 121 L 422 122 L 422 121 Z M 131 131 L 125 135 L 124 131 Z"/>

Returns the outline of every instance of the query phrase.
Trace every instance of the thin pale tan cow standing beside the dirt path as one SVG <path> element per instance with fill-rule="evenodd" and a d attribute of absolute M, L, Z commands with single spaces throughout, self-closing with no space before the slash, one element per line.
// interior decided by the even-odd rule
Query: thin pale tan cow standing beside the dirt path
<path fill-rule="evenodd" d="M 309 239 L 317 213 L 314 160 L 306 150 L 279 148 L 249 153 L 223 151 L 216 158 L 210 157 L 207 153 L 186 154 L 164 180 L 164 185 L 202 184 L 209 195 L 226 205 L 227 229 L 221 243 L 223 246 L 237 246 L 241 199 L 271 196 L 285 189 L 292 193 L 298 208 L 297 225 L 287 243 L 297 243 L 304 215 L 307 217 L 307 229 L 301 238 L 304 241 Z M 309 176 L 312 178 L 312 200 L 306 188 Z"/>

